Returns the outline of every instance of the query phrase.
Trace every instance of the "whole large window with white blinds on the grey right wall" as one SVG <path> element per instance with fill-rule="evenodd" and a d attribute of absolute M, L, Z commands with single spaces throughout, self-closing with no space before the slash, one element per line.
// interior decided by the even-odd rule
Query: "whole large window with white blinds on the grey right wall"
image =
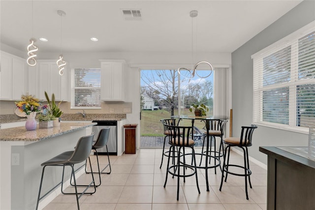
<path fill-rule="evenodd" d="M 252 55 L 254 123 L 294 131 L 315 126 L 314 24 Z"/>

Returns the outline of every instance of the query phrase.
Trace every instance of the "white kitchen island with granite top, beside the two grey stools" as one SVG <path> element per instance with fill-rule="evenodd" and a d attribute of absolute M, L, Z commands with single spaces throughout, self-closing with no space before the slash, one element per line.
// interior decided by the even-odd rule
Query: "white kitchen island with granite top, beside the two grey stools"
<path fill-rule="evenodd" d="M 25 127 L 1 129 L 0 209 L 35 209 L 42 170 L 40 164 L 64 151 L 73 150 L 79 138 L 87 135 L 86 128 L 93 125 L 95 123 L 67 122 L 59 127 L 37 127 L 34 131 L 27 131 Z M 80 164 L 77 165 L 79 168 Z M 49 173 L 44 176 L 43 192 L 57 184 L 62 176 L 62 167 L 48 167 L 46 170 Z M 84 169 L 81 171 L 78 171 L 78 175 Z M 65 173 L 67 180 L 70 169 L 66 169 Z M 58 193 L 59 188 L 42 203 L 49 203 Z"/>

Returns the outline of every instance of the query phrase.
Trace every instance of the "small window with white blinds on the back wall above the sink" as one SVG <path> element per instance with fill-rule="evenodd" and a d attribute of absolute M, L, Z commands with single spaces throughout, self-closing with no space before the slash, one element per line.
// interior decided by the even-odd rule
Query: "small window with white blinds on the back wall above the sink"
<path fill-rule="evenodd" d="M 100 108 L 100 69 L 71 69 L 71 108 Z"/>

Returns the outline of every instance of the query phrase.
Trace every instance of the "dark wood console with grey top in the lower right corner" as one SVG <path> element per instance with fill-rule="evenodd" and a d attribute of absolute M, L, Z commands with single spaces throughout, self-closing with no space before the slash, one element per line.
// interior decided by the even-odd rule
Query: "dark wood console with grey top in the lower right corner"
<path fill-rule="evenodd" d="M 315 209 L 315 161 L 308 147 L 261 146 L 268 155 L 267 210 Z"/>

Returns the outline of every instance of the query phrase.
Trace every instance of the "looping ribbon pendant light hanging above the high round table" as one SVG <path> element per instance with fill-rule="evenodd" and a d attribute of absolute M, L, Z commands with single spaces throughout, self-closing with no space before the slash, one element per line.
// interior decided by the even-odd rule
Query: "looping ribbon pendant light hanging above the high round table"
<path fill-rule="evenodd" d="M 209 62 L 207 62 L 207 61 L 200 61 L 200 62 L 198 62 L 198 63 L 196 63 L 195 65 L 194 65 L 194 67 L 192 68 L 192 63 L 193 63 L 193 18 L 195 18 L 195 17 L 197 17 L 198 16 L 198 11 L 197 10 L 191 10 L 190 12 L 189 12 L 189 16 L 191 17 L 191 53 L 192 53 L 192 61 L 191 61 L 191 70 L 189 70 L 189 69 L 187 69 L 187 68 L 183 68 L 183 67 L 180 67 L 180 68 L 178 68 L 178 73 L 179 74 L 181 74 L 181 70 L 182 71 L 185 71 L 185 73 L 182 73 L 181 75 L 183 75 L 183 76 L 185 76 L 185 77 L 188 77 L 189 78 L 189 81 L 190 81 L 190 79 L 191 78 L 193 78 L 194 77 L 194 75 L 196 74 L 198 77 L 200 77 L 200 78 L 206 78 L 206 77 L 208 77 L 208 76 L 210 76 L 211 74 L 212 74 L 212 71 L 213 71 L 213 67 L 212 67 L 212 65 L 209 63 Z M 207 64 L 207 65 L 209 65 L 209 67 L 210 67 L 210 73 L 208 74 L 208 75 L 206 75 L 206 76 L 202 76 L 202 75 L 198 75 L 198 73 L 197 73 L 197 67 L 198 67 L 198 65 L 199 64 Z"/>

